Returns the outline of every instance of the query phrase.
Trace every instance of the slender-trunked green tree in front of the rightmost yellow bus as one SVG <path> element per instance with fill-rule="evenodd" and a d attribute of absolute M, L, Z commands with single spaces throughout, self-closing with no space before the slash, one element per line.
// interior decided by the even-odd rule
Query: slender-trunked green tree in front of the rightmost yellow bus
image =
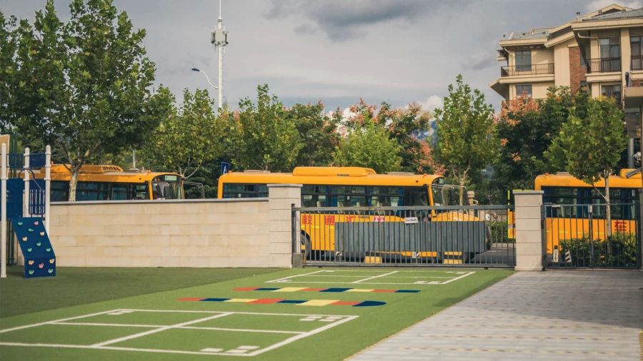
<path fill-rule="evenodd" d="M 558 138 L 545 152 L 552 166 L 564 169 L 575 178 L 592 185 L 605 200 L 607 224 L 612 224 L 609 207 L 609 175 L 612 174 L 627 145 L 623 112 L 614 98 L 589 98 L 587 112 L 572 108 Z M 604 180 L 602 193 L 595 183 Z M 607 227 L 607 236 L 612 227 Z"/>

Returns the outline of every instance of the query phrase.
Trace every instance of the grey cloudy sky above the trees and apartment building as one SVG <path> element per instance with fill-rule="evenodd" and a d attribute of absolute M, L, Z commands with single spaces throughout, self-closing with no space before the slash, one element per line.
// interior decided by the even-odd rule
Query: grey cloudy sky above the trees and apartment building
<path fill-rule="evenodd" d="M 0 0 L 4 14 L 33 20 L 45 0 Z M 558 26 L 615 0 L 223 0 L 230 44 L 224 54 L 224 100 L 256 95 L 267 83 L 290 105 L 321 101 L 327 110 L 364 98 L 434 108 L 462 73 L 498 109 L 489 83 L 499 77 L 498 41 L 512 31 Z M 69 1 L 56 0 L 62 19 Z M 114 0 L 156 63 L 156 83 L 180 96 L 216 82 L 216 0 Z M 641 7 L 641 1 L 617 4 Z M 216 97 L 215 93 L 212 93 Z"/>

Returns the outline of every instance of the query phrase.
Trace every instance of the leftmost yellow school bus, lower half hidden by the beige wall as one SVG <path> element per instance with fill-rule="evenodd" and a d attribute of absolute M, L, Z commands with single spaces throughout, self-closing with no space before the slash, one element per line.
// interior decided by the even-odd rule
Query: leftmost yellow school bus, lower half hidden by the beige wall
<path fill-rule="evenodd" d="M 45 176 L 45 168 L 34 172 Z M 51 166 L 51 201 L 69 199 L 71 171 L 62 164 Z M 123 171 L 118 166 L 82 166 L 76 183 L 76 200 L 184 199 L 184 180 L 177 173 Z"/>

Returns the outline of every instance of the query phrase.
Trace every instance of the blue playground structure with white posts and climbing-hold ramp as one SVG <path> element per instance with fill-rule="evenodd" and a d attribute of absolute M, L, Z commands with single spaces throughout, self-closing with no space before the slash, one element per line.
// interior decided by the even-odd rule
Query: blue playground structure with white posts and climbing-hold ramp
<path fill-rule="evenodd" d="M 36 154 L 25 148 L 23 155 L 14 153 L 15 133 L 3 135 L 1 142 L 0 278 L 6 278 L 7 264 L 16 264 L 14 235 L 25 257 L 25 278 L 54 276 L 55 255 L 49 241 L 51 147 L 46 146 L 45 153 Z M 11 153 L 7 153 L 7 143 Z M 32 177 L 32 168 L 45 168 L 45 178 Z M 9 227 L 7 219 L 11 220 Z"/>

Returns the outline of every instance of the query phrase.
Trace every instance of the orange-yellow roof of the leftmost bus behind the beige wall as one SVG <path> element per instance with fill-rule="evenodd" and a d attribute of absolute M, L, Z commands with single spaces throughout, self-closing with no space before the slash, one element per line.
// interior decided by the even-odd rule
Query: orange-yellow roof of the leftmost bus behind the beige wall
<path fill-rule="evenodd" d="M 51 165 L 51 180 L 64 180 L 71 179 L 71 171 L 62 164 Z M 177 176 L 177 180 L 181 177 L 176 173 L 162 173 L 151 171 L 123 171 L 119 166 L 110 165 L 94 165 L 87 164 L 82 166 L 78 174 L 78 180 L 81 182 L 131 182 L 142 183 L 154 179 L 157 176 L 172 175 Z M 45 168 L 40 168 L 39 171 L 34 171 L 36 178 L 44 178 Z"/>

